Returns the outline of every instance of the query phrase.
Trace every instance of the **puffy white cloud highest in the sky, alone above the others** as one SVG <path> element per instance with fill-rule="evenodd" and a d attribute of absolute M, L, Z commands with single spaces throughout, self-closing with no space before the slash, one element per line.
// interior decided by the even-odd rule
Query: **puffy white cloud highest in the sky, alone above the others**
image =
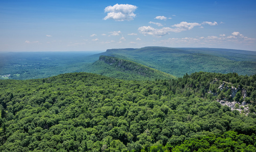
<path fill-rule="evenodd" d="M 108 6 L 105 8 L 105 13 L 109 12 L 108 15 L 104 18 L 113 19 L 115 21 L 124 21 L 124 20 L 133 20 L 136 16 L 134 11 L 137 9 L 137 6 L 129 5 L 129 4 L 116 4 L 114 6 Z"/>

